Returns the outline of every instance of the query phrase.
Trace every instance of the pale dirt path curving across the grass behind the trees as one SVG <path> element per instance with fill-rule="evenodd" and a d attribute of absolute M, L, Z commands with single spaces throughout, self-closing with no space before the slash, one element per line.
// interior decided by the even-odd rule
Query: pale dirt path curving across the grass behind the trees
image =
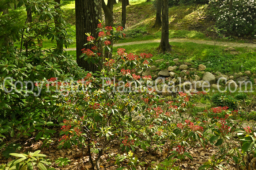
<path fill-rule="evenodd" d="M 160 42 L 161 39 L 147 40 L 147 41 L 134 41 L 134 42 L 125 42 L 120 44 L 114 44 L 114 47 L 133 45 L 133 44 L 147 44 L 152 42 Z M 217 45 L 217 46 L 228 46 L 228 47 L 247 47 L 247 48 L 256 48 L 256 44 L 253 43 L 238 43 L 238 42 L 219 42 L 211 40 L 202 40 L 202 39 L 186 39 L 186 38 L 172 38 L 169 39 L 169 42 L 193 42 L 196 44 L 206 44 L 206 45 Z M 76 48 L 68 48 L 66 51 L 74 51 Z"/>

